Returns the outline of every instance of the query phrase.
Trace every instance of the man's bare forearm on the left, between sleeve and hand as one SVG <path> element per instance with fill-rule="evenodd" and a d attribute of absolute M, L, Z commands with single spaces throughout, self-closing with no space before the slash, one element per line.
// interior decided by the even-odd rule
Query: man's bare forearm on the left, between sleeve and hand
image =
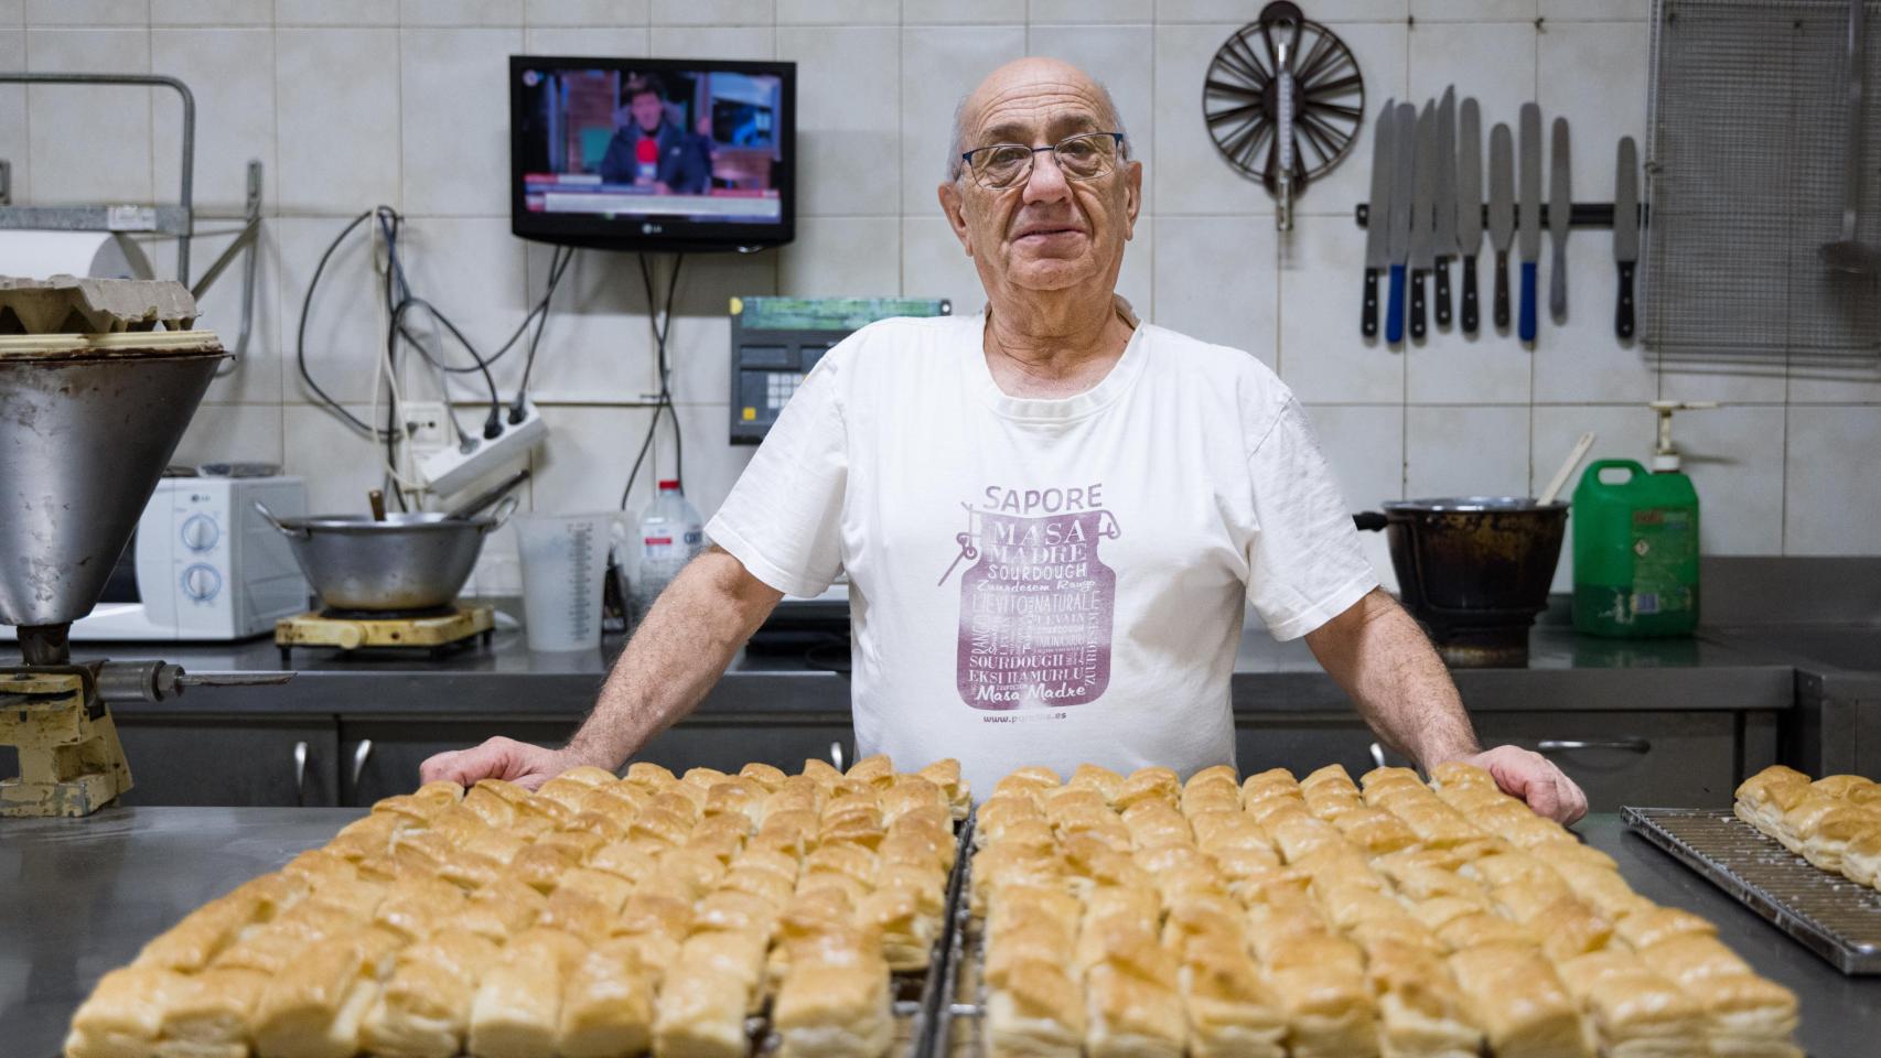
<path fill-rule="evenodd" d="M 688 562 L 621 652 L 568 752 L 621 767 L 705 697 L 779 598 L 717 547 Z"/>

